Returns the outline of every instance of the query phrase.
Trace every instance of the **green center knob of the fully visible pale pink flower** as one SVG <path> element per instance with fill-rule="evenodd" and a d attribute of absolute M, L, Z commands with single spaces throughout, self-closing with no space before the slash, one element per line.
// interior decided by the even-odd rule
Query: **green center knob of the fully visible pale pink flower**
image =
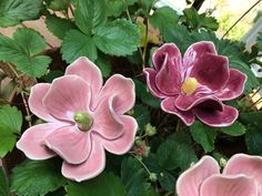
<path fill-rule="evenodd" d="M 93 124 L 93 118 L 88 112 L 75 112 L 73 120 L 82 132 L 88 132 Z"/>

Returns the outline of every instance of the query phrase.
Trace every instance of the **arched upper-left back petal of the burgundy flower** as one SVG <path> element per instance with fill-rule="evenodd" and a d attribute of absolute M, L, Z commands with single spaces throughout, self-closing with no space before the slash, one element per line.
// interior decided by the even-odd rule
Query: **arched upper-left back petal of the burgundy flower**
<path fill-rule="evenodd" d="M 181 60 L 182 56 L 179 48 L 173 43 L 165 43 L 162 47 L 160 47 L 157 51 L 154 51 L 152 55 L 153 65 L 157 71 L 161 70 L 167 55 L 170 59 L 174 60 L 177 65 L 179 66 L 182 65 L 182 60 Z"/>

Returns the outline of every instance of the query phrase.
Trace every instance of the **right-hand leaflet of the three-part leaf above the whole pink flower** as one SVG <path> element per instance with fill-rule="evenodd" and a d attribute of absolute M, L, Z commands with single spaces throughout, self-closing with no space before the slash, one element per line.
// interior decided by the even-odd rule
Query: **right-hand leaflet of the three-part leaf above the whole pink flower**
<path fill-rule="evenodd" d="M 100 27 L 94 34 L 94 42 L 105 54 L 128 55 L 137 51 L 140 34 L 135 24 L 118 19 Z"/>

